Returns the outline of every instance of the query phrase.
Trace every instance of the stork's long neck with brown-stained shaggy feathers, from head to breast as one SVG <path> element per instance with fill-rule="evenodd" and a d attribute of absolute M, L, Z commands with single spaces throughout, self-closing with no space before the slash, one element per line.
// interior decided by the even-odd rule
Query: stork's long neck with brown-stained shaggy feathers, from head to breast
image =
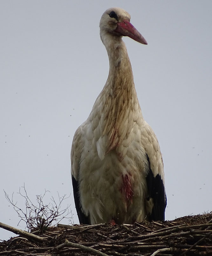
<path fill-rule="evenodd" d="M 111 38 L 112 39 L 112 38 Z M 109 56 L 109 75 L 100 94 L 104 101 L 104 130 L 108 138 L 106 152 L 116 148 L 131 132 L 133 112 L 140 106 L 133 81 L 133 71 L 125 43 L 119 37 L 103 43 Z"/>

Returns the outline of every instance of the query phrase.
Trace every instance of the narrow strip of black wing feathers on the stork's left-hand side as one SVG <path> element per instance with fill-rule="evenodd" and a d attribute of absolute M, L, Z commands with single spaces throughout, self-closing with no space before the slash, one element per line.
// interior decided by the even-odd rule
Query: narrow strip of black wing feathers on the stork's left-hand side
<path fill-rule="evenodd" d="M 80 207 L 79 185 L 78 185 L 78 182 L 74 178 L 73 175 L 72 175 L 72 186 L 73 186 L 73 191 L 74 191 L 74 202 L 75 202 L 75 206 L 76 206 L 76 210 L 77 210 L 77 215 L 78 215 L 78 218 L 79 218 L 79 223 L 90 225 L 91 223 L 90 223 L 90 220 L 89 220 L 89 216 L 86 216 L 82 212 L 82 209 Z"/>

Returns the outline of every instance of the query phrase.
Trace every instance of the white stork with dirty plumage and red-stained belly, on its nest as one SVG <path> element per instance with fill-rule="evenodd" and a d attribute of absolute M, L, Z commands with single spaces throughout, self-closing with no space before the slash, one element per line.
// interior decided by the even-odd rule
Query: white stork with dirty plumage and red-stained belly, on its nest
<path fill-rule="evenodd" d="M 147 41 L 120 8 L 106 10 L 100 38 L 110 69 L 88 119 L 76 130 L 71 173 L 79 222 L 164 220 L 166 193 L 161 150 L 143 119 L 122 36 Z"/>

